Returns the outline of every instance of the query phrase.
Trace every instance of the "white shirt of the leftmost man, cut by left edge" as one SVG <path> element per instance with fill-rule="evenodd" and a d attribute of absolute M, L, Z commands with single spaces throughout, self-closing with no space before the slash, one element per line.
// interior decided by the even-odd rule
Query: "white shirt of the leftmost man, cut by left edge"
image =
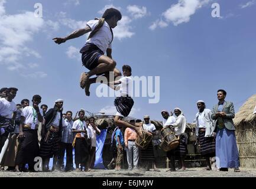
<path fill-rule="evenodd" d="M 0 116 L 11 119 L 12 113 L 17 111 L 15 102 L 9 102 L 7 99 L 0 99 Z"/>

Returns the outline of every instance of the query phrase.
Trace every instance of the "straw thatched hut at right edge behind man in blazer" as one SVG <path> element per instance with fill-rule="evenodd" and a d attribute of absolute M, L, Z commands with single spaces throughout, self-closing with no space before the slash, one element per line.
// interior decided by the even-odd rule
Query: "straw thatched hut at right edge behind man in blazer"
<path fill-rule="evenodd" d="M 235 114 L 236 141 L 241 167 L 256 168 L 256 94 L 241 106 Z"/>

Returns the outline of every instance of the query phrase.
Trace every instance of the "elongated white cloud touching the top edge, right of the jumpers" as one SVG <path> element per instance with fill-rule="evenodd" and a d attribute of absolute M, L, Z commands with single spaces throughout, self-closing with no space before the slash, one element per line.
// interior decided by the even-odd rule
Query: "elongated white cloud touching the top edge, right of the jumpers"
<path fill-rule="evenodd" d="M 150 30 L 155 30 L 158 26 L 161 28 L 167 27 L 170 22 L 173 22 L 175 26 L 183 22 L 189 22 L 190 17 L 196 13 L 197 9 L 209 4 L 210 1 L 212 0 L 179 0 L 177 4 L 171 5 L 170 8 L 163 12 L 164 21 L 157 19 L 149 28 Z"/>

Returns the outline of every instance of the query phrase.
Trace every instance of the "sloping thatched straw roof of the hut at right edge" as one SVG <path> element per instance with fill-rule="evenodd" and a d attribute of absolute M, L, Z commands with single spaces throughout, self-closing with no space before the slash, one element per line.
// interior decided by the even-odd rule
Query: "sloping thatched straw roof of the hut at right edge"
<path fill-rule="evenodd" d="M 256 118 L 256 114 L 252 114 L 254 107 L 256 106 L 256 94 L 249 97 L 249 99 L 242 105 L 235 114 L 234 124 L 239 125 L 242 122 L 252 122 Z"/>

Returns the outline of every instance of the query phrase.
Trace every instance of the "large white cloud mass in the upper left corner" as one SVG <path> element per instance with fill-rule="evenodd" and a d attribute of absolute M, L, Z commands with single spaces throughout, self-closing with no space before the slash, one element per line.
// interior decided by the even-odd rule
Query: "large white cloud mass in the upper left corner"
<path fill-rule="evenodd" d="M 33 41 L 35 33 L 43 28 L 44 20 L 34 17 L 34 12 L 8 15 L 5 13 L 5 1 L 0 0 L 0 61 L 8 70 L 24 68 L 22 58 L 40 54 L 27 47 Z"/>

